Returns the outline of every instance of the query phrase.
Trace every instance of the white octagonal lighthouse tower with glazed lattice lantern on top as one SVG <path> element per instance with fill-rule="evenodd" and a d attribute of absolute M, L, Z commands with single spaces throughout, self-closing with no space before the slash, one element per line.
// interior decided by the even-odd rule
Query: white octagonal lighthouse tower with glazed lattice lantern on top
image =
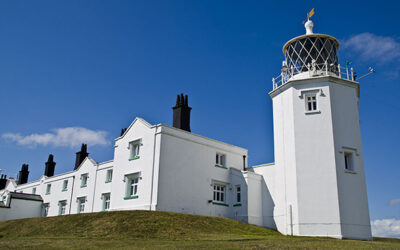
<path fill-rule="evenodd" d="M 338 64 L 338 40 L 314 34 L 311 20 L 305 28 L 284 45 L 282 73 L 269 93 L 275 164 L 273 174 L 263 174 L 273 221 L 288 235 L 371 240 L 359 84 Z"/>

